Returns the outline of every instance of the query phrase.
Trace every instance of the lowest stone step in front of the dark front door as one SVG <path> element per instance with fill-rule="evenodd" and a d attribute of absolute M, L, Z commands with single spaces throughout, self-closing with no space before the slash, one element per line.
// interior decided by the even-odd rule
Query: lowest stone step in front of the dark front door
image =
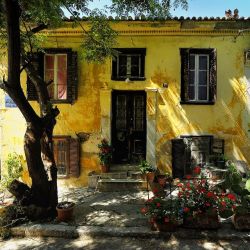
<path fill-rule="evenodd" d="M 135 179 L 100 179 L 97 189 L 101 192 L 116 192 L 125 190 L 146 190 L 146 181 Z"/>

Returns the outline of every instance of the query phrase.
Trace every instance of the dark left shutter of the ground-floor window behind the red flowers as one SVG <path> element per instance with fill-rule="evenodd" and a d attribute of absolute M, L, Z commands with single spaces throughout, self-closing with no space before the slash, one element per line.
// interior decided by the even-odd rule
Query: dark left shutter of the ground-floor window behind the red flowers
<path fill-rule="evenodd" d="M 185 174 L 185 143 L 183 139 L 172 140 L 172 168 L 174 178 L 183 178 Z"/>

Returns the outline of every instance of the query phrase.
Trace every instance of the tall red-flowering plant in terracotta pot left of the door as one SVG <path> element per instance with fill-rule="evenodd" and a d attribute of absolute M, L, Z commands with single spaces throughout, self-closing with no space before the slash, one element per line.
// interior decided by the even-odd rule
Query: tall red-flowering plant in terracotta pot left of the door
<path fill-rule="evenodd" d="M 98 144 L 98 148 L 101 170 L 103 173 L 107 173 L 112 159 L 112 146 L 109 144 L 108 140 L 102 139 L 101 143 Z"/>

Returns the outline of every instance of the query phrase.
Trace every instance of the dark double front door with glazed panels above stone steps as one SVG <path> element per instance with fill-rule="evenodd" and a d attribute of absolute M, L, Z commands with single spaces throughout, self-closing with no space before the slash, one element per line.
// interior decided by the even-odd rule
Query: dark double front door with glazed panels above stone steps
<path fill-rule="evenodd" d="M 146 156 L 146 93 L 113 91 L 112 145 L 114 163 L 138 163 Z"/>

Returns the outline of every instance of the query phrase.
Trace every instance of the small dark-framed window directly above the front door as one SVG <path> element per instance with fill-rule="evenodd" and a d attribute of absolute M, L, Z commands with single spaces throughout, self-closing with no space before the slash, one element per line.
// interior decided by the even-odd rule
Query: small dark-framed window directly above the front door
<path fill-rule="evenodd" d="M 112 60 L 112 80 L 145 80 L 146 49 L 116 49 Z"/>

